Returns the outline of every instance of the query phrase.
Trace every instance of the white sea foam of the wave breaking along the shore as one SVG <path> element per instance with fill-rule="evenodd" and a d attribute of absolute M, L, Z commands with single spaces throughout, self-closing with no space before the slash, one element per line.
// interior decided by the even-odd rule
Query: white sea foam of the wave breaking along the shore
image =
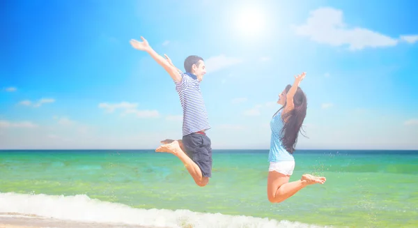
<path fill-rule="evenodd" d="M 278 221 L 244 215 L 132 208 L 125 204 L 91 199 L 87 195 L 28 195 L 0 192 L 0 213 L 37 215 L 75 222 L 106 222 L 146 227 L 320 227 L 301 222 Z"/>

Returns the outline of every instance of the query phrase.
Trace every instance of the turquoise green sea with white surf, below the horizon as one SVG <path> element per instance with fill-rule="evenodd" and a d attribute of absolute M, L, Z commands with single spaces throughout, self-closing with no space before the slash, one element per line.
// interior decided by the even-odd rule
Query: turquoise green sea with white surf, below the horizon
<path fill-rule="evenodd" d="M 418 226 L 418 151 L 296 151 L 291 181 L 327 182 L 281 204 L 267 199 L 267 159 L 214 150 L 201 188 L 153 150 L 0 151 L 0 213 L 146 227 Z"/>

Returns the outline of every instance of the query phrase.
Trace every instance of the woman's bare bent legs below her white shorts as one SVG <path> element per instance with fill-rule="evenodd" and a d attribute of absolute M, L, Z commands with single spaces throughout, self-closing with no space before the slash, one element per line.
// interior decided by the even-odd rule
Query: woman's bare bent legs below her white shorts
<path fill-rule="evenodd" d="M 299 181 L 288 182 L 290 175 L 284 175 L 279 172 L 268 172 L 267 196 L 272 203 L 283 202 L 285 199 L 295 195 L 307 185 L 314 183 L 325 183 L 325 177 L 312 176 L 310 174 L 302 175 Z"/>

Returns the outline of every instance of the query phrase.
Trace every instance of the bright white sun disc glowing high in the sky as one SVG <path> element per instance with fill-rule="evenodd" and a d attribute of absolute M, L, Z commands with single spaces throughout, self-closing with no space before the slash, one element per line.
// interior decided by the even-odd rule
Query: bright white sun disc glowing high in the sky
<path fill-rule="evenodd" d="M 236 24 L 241 32 L 246 35 L 254 35 L 265 29 L 265 13 L 255 7 L 243 8 L 238 11 Z"/>

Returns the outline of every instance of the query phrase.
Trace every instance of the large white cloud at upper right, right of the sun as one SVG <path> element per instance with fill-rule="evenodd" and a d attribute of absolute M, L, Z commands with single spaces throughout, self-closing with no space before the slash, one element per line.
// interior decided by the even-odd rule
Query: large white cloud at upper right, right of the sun
<path fill-rule="evenodd" d="M 343 22 L 343 12 L 334 8 L 318 8 L 310 13 L 306 24 L 295 26 L 300 36 L 307 36 L 318 43 L 332 46 L 348 45 L 352 51 L 366 47 L 391 47 L 398 44 L 397 38 L 383 35 L 361 27 L 348 26 Z M 416 36 L 401 36 L 409 43 Z"/>

